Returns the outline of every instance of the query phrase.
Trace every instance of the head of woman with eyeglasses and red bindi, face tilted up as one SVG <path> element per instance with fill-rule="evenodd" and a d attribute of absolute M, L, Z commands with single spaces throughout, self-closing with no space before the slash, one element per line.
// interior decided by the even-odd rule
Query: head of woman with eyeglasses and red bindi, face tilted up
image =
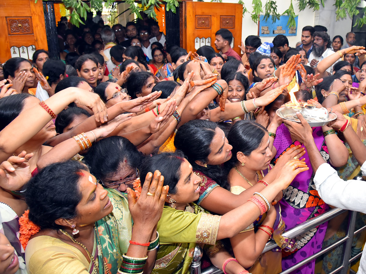
<path fill-rule="evenodd" d="M 94 93 L 99 94 L 106 107 L 111 107 L 116 103 L 131 99 L 127 94 L 126 88 L 121 88 L 119 84 L 113 82 L 100 83 L 94 90 Z"/>

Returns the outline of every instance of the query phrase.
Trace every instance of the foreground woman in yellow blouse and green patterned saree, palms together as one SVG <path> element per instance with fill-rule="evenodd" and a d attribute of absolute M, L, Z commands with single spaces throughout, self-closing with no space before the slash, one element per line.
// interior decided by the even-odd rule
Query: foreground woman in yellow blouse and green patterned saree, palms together
<path fill-rule="evenodd" d="M 27 243 L 27 269 L 34 274 L 117 274 L 132 273 L 133 265 L 150 273 L 159 244 L 156 226 L 169 190 L 163 183 L 159 171 L 149 172 L 138 201 L 131 189 L 127 201 L 116 190 L 104 189 L 77 161 L 48 165 L 27 184 L 29 220 L 40 229 Z"/>

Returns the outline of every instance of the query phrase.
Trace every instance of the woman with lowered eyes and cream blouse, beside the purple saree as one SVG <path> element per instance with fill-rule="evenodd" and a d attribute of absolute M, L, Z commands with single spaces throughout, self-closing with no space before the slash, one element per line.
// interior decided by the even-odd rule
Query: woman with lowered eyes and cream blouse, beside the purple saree
<path fill-rule="evenodd" d="M 257 123 L 239 121 L 230 129 L 228 141 L 232 145 L 233 154 L 228 161 L 231 167 L 228 175 L 231 193 L 239 195 L 258 183 L 267 186 L 268 183 L 263 178 L 272 168 L 269 164 L 272 159 L 272 145 L 268 131 Z M 298 151 L 297 157 L 300 159 L 305 154 L 305 149 L 300 148 Z M 301 161 L 305 161 L 305 158 Z M 281 198 L 282 191 L 276 195 L 273 202 L 271 201 L 273 206 L 266 216 L 259 217 L 259 220 L 255 220 L 230 239 L 235 258 L 243 267 L 251 267 L 251 273 L 281 272 L 281 248 L 292 250 L 295 247 L 295 241 L 281 236 L 285 228 L 281 207 L 277 204 Z M 262 254 L 265 244 L 272 236 L 279 248 L 275 249 L 276 252 L 268 251 Z M 271 263 L 267 264 L 266 261 Z"/>

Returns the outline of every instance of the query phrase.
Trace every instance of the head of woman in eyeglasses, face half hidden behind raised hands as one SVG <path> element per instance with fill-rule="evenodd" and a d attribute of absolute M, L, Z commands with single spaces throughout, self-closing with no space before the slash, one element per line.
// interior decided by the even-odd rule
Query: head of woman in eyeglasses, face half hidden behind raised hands
<path fill-rule="evenodd" d="M 103 187 L 126 193 L 127 188 L 133 189 L 143 157 L 128 139 L 112 136 L 94 144 L 85 160 Z"/>

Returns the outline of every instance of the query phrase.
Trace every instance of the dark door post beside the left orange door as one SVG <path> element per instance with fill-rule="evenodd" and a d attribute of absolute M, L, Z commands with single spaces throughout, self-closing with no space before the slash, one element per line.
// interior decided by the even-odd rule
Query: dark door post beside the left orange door
<path fill-rule="evenodd" d="M 55 10 L 52 1 L 43 1 L 43 12 L 45 16 L 49 57 L 60 59 L 59 39 L 57 37 Z"/>

